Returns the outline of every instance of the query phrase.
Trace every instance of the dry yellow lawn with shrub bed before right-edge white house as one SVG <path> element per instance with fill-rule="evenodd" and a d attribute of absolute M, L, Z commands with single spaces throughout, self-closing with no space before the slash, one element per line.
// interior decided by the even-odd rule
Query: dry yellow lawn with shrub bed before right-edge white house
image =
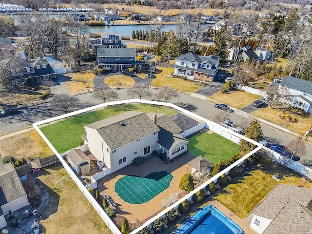
<path fill-rule="evenodd" d="M 297 119 L 297 122 L 292 123 L 286 120 L 283 120 L 280 118 L 281 115 L 288 114 L 292 117 L 295 117 Z M 253 116 L 259 117 L 262 119 L 265 119 L 267 121 L 270 121 L 271 123 L 277 124 L 283 128 L 289 129 L 292 132 L 298 133 L 298 134 L 305 134 L 307 130 L 309 130 L 312 122 L 312 116 L 307 115 L 303 116 L 298 114 L 292 114 L 284 109 L 274 107 L 273 108 L 264 108 L 259 109 L 252 113 Z"/>

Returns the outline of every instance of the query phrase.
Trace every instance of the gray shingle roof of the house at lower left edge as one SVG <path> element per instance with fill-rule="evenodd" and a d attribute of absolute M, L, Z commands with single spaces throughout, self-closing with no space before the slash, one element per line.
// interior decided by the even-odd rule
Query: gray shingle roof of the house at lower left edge
<path fill-rule="evenodd" d="M 25 190 L 12 164 L 0 165 L 0 206 L 24 195 L 26 195 Z"/>

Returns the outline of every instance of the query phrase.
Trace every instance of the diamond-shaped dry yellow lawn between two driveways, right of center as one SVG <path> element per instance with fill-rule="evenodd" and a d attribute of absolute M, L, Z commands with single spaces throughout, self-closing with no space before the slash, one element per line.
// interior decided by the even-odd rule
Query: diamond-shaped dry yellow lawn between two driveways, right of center
<path fill-rule="evenodd" d="M 209 98 L 215 99 L 216 101 L 225 103 L 229 106 L 233 106 L 237 109 L 241 109 L 261 98 L 261 96 L 244 91 L 230 91 L 229 93 L 218 92 Z"/>

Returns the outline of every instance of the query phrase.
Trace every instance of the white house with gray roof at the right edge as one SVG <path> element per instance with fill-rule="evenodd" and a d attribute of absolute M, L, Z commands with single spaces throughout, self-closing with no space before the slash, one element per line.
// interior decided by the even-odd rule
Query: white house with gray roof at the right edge
<path fill-rule="evenodd" d="M 274 78 L 278 90 L 287 91 L 284 103 L 312 113 L 312 82 L 291 76 Z M 277 85 L 277 84 L 276 84 Z"/>

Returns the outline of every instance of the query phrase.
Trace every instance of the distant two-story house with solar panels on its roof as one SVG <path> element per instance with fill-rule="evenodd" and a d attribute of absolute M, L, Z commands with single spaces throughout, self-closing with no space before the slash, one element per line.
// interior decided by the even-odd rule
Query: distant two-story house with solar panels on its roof
<path fill-rule="evenodd" d="M 101 38 L 89 38 L 89 48 L 127 48 L 127 44 L 121 42 L 119 34 L 103 33 Z"/>

